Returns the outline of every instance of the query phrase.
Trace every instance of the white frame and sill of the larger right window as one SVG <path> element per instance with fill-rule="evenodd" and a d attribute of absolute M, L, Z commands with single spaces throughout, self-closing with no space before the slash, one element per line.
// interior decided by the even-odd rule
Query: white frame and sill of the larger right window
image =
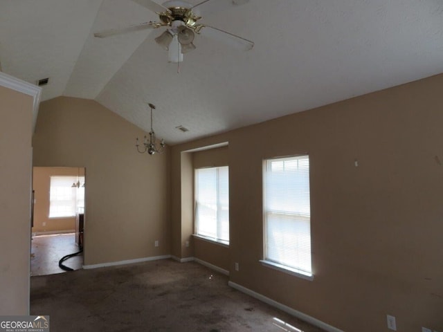
<path fill-rule="evenodd" d="M 268 175 L 268 165 L 269 162 L 271 161 L 278 161 L 278 160 L 289 160 L 291 161 L 291 159 L 299 159 L 299 158 L 304 158 L 307 157 L 308 160 L 308 183 L 309 183 L 309 215 L 306 215 L 305 213 L 295 213 L 295 212 L 288 212 L 288 211 L 272 211 L 269 210 L 267 207 L 267 203 L 266 203 L 266 199 L 268 199 L 266 196 L 268 194 L 268 192 L 266 191 L 266 176 Z M 263 194 L 263 204 L 262 204 L 262 212 L 263 212 L 263 225 L 262 225 L 262 230 L 263 230 L 263 259 L 260 259 L 260 263 L 263 266 L 269 267 L 269 268 L 273 268 L 275 270 L 279 270 L 283 273 L 287 273 L 289 275 L 294 275 L 296 277 L 300 277 L 302 279 L 306 279 L 309 281 L 314 280 L 314 274 L 313 274 L 313 270 L 312 270 L 312 247 L 311 247 L 311 243 L 312 243 L 312 236 L 311 236 L 311 209 L 310 209 L 310 202 L 311 202 L 311 184 L 310 184 L 310 172 L 311 172 L 311 165 L 310 165 L 310 157 L 309 154 L 297 154 L 297 155 L 291 155 L 291 156 L 280 156 L 280 157 L 273 157 L 273 158 L 264 158 L 263 159 L 263 171 L 262 171 L 262 194 Z M 274 215 L 280 215 L 280 216 L 289 216 L 289 218 L 294 218 L 294 219 L 308 219 L 309 220 L 309 261 L 310 261 L 310 270 L 303 270 L 301 268 L 294 268 L 293 266 L 287 266 L 282 264 L 281 261 L 274 261 L 271 259 L 267 259 L 268 255 L 267 255 L 267 237 L 269 237 L 269 235 L 267 234 L 268 231 L 268 225 L 267 225 L 267 220 L 268 220 L 268 215 L 269 214 L 274 214 Z"/>

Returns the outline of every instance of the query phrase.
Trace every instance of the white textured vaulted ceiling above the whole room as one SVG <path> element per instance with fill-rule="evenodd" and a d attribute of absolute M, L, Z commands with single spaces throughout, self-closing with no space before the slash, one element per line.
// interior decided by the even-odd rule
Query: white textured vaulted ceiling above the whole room
<path fill-rule="evenodd" d="M 154 42 L 161 28 L 93 37 L 154 20 L 131 0 L 2 0 L 2 69 L 31 83 L 50 77 L 42 100 L 95 99 L 146 130 L 152 102 L 156 134 L 170 144 L 443 71 L 440 0 L 250 0 L 201 22 L 254 48 L 198 35 L 180 73 Z"/>

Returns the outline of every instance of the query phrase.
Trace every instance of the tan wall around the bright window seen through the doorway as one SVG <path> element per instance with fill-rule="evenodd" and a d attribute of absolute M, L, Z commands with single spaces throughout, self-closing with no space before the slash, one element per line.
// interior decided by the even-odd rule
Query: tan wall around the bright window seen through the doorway
<path fill-rule="evenodd" d="M 84 176 L 84 167 L 33 167 L 34 226 L 33 232 L 75 230 L 75 216 L 49 218 L 51 176 Z"/>

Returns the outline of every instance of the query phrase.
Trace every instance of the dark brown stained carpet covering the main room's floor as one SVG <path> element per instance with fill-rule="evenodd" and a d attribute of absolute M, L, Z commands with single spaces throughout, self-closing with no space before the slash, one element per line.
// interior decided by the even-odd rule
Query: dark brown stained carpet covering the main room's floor
<path fill-rule="evenodd" d="M 170 259 L 31 277 L 30 314 L 52 332 L 323 330 L 249 297 L 228 277 Z"/>

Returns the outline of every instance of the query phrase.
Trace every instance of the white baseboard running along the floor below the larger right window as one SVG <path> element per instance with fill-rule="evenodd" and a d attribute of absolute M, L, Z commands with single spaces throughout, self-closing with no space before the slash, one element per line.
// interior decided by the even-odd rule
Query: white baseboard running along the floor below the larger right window
<path fill-rule="evenodd" d="M 251 289 L 249 289 L 249 288 L 246 288 L 246 287 L 241 286 L 239 284 L 235 284 L 235 282 L 228 282 L 228 285 L 232 288 L 237 289 L 237 291 L 240 291 L 240 292 L 245 293 L 247 295 L 251 295 L 252 297 L 255 297 L 256 299 L 260 299 L 260 301 L 262 301 L 266 304 L 274 306 L 275 308 L 278 308 L 281 311 L 284 311 L 285 313 L 289 313 L 289 315 L 293 315 L 294 317 L 300 318 L 300 320 L 304 320 L 305 322 L 308 322 L 309 324 L 317 326 L 320 329 L 323 329 L 327 332 L 343 332 L 342 330 L 337 329 L 336 327 L 331 326 L 329 324 L 326 324 L 325 322 L 322 322 L 321 320 L 317 320 L 316 318 L 306 315 L 305 313 L 301 313 L 300 311 L 297 311 L 289 306 L 285 306 L 284 304 L 274 301 L 273 299 L 270 299 L 269 297 L 266 297 L 266 296 L 261 295 L 259 293 L 255 293 L 254 291 L 251 291 Z"/>

